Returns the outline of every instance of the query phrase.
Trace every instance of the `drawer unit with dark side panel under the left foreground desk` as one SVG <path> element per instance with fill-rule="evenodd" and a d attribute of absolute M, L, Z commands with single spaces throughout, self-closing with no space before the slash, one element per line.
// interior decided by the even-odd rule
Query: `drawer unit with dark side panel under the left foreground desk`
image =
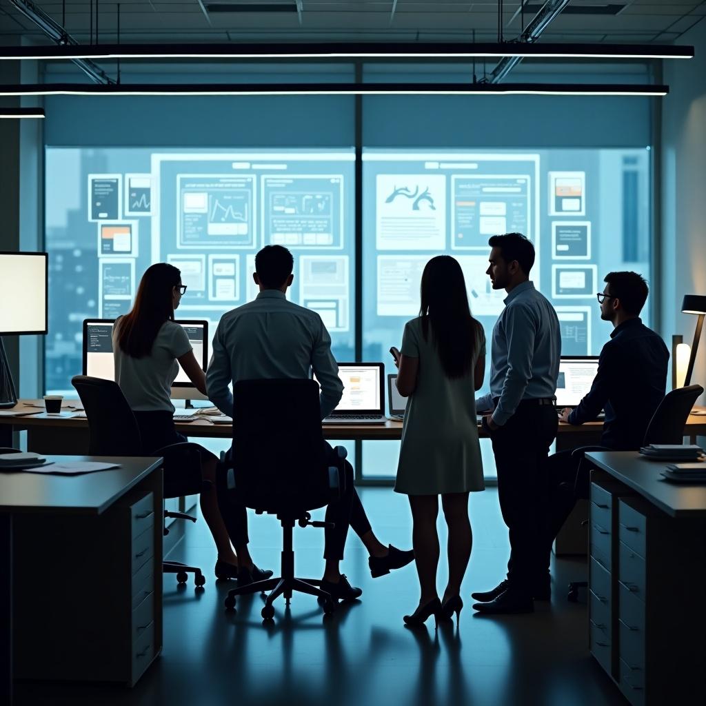
<path fill-rule="evenodd" d="M 61 522 L 35 516 L 26 527 L 20 518 L 18 678 L 138 681 L 162 643 L 162 526 L 155 509 L 155 494 L 138 486 L 98 515 L 64 515 Z M 41 570 L 31 561 L 40 554 Z M 59 580 L 48 588 L 47 576 Z"/>

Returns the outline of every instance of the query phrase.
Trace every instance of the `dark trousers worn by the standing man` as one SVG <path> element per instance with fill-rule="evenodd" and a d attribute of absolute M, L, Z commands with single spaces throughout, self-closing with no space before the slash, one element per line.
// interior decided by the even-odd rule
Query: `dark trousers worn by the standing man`
<path fill-rule="evenodd" d="M 554 406 L 526 400 L 491 435 L 500 509 L 510 533 L 508 580 L 518 592 L 530 595 L 536 585 L 546 581 L 546 460 L 557 427 Z"/>

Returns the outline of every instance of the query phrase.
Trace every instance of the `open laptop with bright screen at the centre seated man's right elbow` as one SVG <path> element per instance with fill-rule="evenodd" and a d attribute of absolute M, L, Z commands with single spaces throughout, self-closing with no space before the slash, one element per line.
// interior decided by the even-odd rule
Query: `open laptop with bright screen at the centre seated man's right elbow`
<path fill-rule="evenodd" d="M 339 363 L 343 397 L 321 423 L 385 424 L 384 372 L 382 363 Z M 313 379 L 316 380 L 316 376 Z"/>

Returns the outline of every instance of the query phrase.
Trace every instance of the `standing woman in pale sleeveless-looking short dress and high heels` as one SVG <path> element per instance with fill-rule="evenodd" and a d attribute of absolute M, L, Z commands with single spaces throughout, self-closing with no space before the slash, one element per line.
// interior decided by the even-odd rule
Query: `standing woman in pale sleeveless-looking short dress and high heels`
<path fill-rule="evenodd" d="M 475 393 L 485 373 L 485 334 L 471 316 L 458 262 L 432 258 L 421 275 L 418 318 L 405 325 L 397 390 L 409 397 L 395 491 L 409 496 L 412 543 L 421 596 L 409 626 L 432 614 L 456 620 L 461 582 L 471 556 L 468 493 L 485 489 Z M 436 592 L 438 496 L 448 525 L 448 585 Z"/>

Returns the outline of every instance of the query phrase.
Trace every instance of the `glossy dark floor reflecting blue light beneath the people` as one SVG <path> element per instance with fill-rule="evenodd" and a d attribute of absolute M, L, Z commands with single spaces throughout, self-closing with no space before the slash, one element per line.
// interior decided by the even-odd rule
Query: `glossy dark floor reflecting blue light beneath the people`
<path fill-rule="evenodd" d="M 407 500 L 389 488 L 365 488 L 361 498 L 383 542 L 407 547 Z M 402 626 L 417 604 L 414 565 L 371 579 L 357 537 L 349 535 L 343 570 L 363 589 L 361 600 L 323 619 L 316 600 L 280 599 L 275 621 L 263 625 L 259 595 L 239 599 L 227 614 L 228 582 L 213 578 L 215 552 L 203 520 L 186 528 L 172 558 L 197 563 L 208 583 L 180 589 L 164 582 L 164 650 L 136 688 L 18 683 L 16 704 L 66 706 L 604 706 L 625 704 L 587 648 L 585 604 L 566 601 L 569 580 L 585 577 L 582 561 L 554 566 L 554 598 L 531 615 L 476 617 L 469 593 L 503 577 L 507 532 L 496 489 L 472 496 L 473 554 L 466 575 L 460 629 L 433 621 Z M 253 556 L 277 570 L 280 529 L 273 517 L 251 517 Z M 440 527 L 443 522 L 440 522 Z M 442 540 L 445 539 L 443 527 Z M 321 575 L 323 530 L 295 530 L 297 573 Z M 443 590 L 442 558 L 439 589 Z M 58 606 L 54 606 L 58 608 Z M 107 606 L 109 609 L 109 606 Z"/>

